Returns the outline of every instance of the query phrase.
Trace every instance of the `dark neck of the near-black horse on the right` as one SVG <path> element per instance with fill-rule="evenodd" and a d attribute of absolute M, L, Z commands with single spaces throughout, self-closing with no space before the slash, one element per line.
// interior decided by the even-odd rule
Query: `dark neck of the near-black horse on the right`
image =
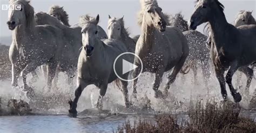
<path fill-rule="evenodd" d="M 213 41 L 215 42 L 214 44 L 218 47 L 218 45 L 223 44 L 220 42 L 225 36 L 225 32 L 223 31 L 225 31 L 225 29 L 230 25 L 227 23 L 224 13 L 220 10 L 212 12 L 210 16 L 211 17 L 208 18 L 208 22 L 211 25 L 211 35 Z"/>

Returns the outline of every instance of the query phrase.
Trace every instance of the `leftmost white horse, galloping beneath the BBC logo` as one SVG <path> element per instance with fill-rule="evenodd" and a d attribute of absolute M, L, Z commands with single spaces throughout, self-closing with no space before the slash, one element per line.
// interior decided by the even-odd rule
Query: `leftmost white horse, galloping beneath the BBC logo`
<path fill-rule="evenodd" d="M 29 1 L 10 1 L 21 5 L 21 10 L 9 10 L 8 27 L 12 31 L 9 57 L 12 63 L 12 86 L 18 86 L 19 75 L 23 79 L 24 90 L 30 90 L 26 75 L 38 66 L 47 64 L 48 86 L 55 76 L 57 61 L 64 47 L 63 34 L 59 28 L 36 26 L 33 7 Z"/>

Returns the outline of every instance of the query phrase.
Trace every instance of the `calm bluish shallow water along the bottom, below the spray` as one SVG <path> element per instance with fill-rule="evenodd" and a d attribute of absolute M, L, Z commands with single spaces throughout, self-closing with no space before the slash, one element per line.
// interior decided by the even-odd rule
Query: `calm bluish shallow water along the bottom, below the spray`
<path fill-rule="evenodd" d="M 242 111 L 240 115 L 250 117 L 256 122 L 256 112 Z M 178 120 L 186 120 L 185 114 L 176 115 Z M 131 124 L 138 120 L 154 122 L 154 115 L 104 115 L 78 116 L 67 115 L 30 115 L 1 116 L 0 132 L 113 132 L 126 121 Z"/>

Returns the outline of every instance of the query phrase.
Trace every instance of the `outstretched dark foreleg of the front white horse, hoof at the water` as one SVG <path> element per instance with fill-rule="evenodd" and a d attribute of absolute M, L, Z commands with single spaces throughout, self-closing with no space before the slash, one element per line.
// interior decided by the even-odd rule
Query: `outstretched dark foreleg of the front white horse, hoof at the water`
<path fill-rule="evenodd" d="M 77 78 L 77 83 L 78 83 L 78 87 L 76 88 L 75 91 L 75 98 L 69 101 L 69 105 L 70 105 L 70 109 L 69 109 L 69 114 L 72 117 L 76 117 L 77 116 L 77 102 L 78 99 L 80 98 L 84 88 L 88 85 L 86 84 L 83 79 L 81 78 Z"/>

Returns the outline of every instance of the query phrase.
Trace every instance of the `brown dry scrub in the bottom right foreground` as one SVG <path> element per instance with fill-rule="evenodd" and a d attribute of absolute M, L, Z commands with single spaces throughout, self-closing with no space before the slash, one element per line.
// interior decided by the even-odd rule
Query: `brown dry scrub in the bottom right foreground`
<path fill-rule="evenodd" d="M 256 132 L 256 123 L 239 117 L 239 109 L 233 105 L 219 106 L 201 102 L 191 105 L 189 120 L 178 124 L 172 115 L 156 116 L 156 122 L 139 121 L 124 123 L 117 132 Z M 183 125 L 183 126 L 180 126 Z"/>

